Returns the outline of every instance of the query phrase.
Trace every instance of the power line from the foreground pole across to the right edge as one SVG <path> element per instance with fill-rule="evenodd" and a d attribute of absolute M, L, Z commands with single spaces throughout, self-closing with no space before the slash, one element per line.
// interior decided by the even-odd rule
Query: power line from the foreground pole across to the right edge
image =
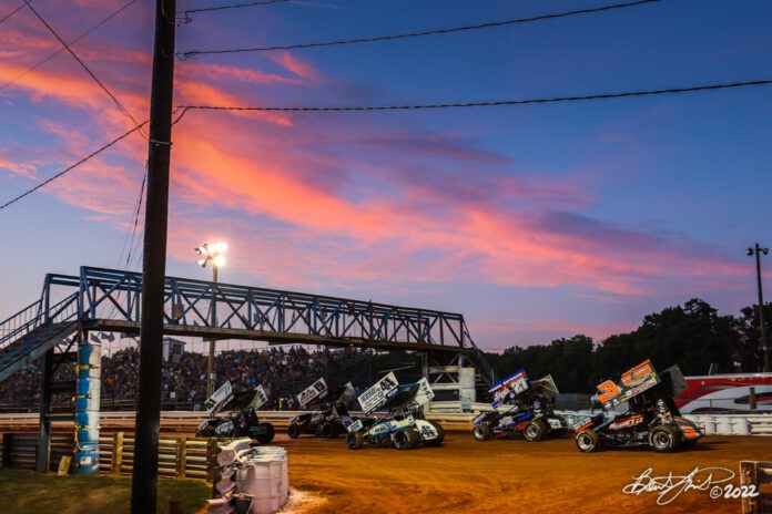
<path fill-rule="evenodd" d="M 628 91 L 621 93 L 599 93 L 578 96 L 555 96 L 548 99 L 527 99 L 527 100 L 500 100 L 490 102 L 464 102 L 464 103 L 434 103 L 434 104 L 414 104 L 414 105 L 368 105 L 368 106 L 337 106 L 337 107 L 258 107 L 258 106 L 217 106 L 217 105 L 187 105 L 182 106 L 183 112 L 177 117 L 177 121 L 189 110 L 207 110 L 207 111 L 280 111 L 280 112 L 343 112 L 343 111 L 407 111 L 419 109 L 457 109 L 457 107 L 491 107 L 506 105 L 527 105 L 539 103 L 558 103 L 558 102 L 580 102 L 588 100 L 607 100 L 622 99 L 629 96 L 652 96 L 658 94 L 681 94 L 693 93 L 698 91 L 725 90 L 733 88 L 749 88 L 759 85 L 770 85 L 772 80 L 760 80 L 749 82 L 731 82 L 724 84 L 693 85 L 689 88 L 670 88 L 663 90 L 647 90 L 647 91 Z"/>

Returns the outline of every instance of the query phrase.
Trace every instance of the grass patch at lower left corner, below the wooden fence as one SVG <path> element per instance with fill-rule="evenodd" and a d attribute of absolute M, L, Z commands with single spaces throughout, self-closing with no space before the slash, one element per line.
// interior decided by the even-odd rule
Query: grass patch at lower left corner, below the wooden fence
<path fill-rule="evenodd" d="M 201 512 L 212 486 L 201 480 L 159 479 L 159 514 L 181 502 L 185 514 Z M 34 514 L 123 514 L 131 512 L 131 477 L 67 475 L 0 469 L 2 512 Z"/>

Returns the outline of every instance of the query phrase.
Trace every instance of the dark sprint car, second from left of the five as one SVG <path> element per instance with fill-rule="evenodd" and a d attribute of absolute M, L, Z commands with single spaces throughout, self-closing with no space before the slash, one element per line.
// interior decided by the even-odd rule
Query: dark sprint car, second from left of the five
<path fill-rule="evenodd" d="M 297 439 L 308 433 L 322 438 L 334 439 L 346 432 L 346 426 L 355 420 L 348 414 L 346 407 L 354 399 L 354 387 L 349 383 L 339 388 L 328 389 L 324 379 L 304 389 L 297 394 L 301 408 L 316 407 L 290 419 L 287 435 Z"/>

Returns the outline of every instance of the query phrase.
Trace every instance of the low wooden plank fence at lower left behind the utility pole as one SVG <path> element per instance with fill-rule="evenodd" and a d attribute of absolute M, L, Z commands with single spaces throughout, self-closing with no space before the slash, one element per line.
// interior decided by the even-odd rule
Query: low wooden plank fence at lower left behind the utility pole
<path fill-rule="evenodd" d="M 70 432 L 51 435 L 49 471 L 58 471 L 64 456 L 72 456 L 75 444 Z M 201 479 L 212 481 L 217 455 L 214 438 L 160 438 L 159 476 L 167 479 Z M 37 433 L 3 433 L 2 466 L 35 470 L 38 462 Z M 116 432 L 99 439 L 99 472 L 131 474 L 134 466 L 134 436 Z"/>

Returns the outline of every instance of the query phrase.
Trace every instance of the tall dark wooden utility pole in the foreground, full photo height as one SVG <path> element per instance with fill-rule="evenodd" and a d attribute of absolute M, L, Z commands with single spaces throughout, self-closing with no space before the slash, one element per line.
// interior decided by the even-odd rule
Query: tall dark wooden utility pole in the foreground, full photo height
<path fill-rule="evenodd" d="M 156 0 L 148 144 L 148 201 L 142 263 L 140 393 L 134 429 L 134 470 L 131 482 L 132 514 L 155 514 L 156 512 L 175 13 L 175 0 Z"/>

